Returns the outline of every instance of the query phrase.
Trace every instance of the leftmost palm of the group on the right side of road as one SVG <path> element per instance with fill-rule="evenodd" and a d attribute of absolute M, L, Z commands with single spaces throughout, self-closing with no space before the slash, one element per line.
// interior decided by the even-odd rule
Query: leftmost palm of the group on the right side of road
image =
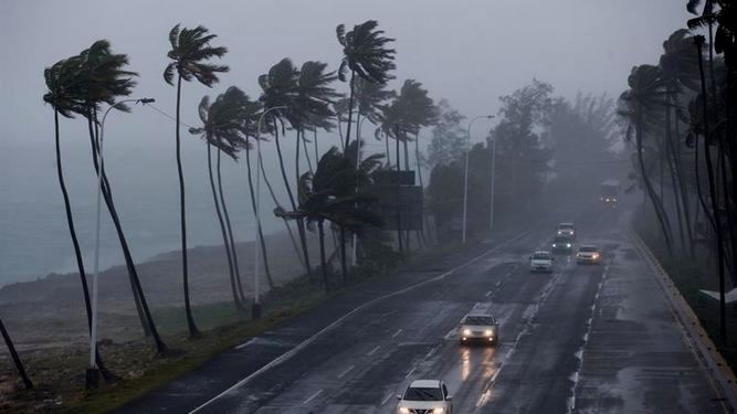
<path fill-rule="evenodd" d="M 665 105 L 665 81 L 662 77 L 660 67 L 641 65 L 632 68 L 628 84 L 630 85 L 630 89 L 620 96 L 620 103 L 623 108 L 619 113 L 634 126 L 641 178 L 655 210 L 667 250 L 671 252 L 671 223 L 663 208 L 662 200 L 655 193 L 646 172 L 643 156 L 643 139 L 651 128 L 653 128 L 651 123 L 661 125 L 657 121 L 661 114 L 659 108 Z"/>

